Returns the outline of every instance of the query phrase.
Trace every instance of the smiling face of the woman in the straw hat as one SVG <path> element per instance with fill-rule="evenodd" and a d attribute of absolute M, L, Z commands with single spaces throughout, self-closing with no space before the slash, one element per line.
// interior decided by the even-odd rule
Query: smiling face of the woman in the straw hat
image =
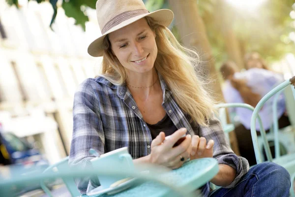
<path fill-rule="evenodd" d="M 153 68 L 158 49 L 155 33 L 146 19 L 110 33 L 109 40 L 113 54 L 129 73 L 144 73 Z"/>

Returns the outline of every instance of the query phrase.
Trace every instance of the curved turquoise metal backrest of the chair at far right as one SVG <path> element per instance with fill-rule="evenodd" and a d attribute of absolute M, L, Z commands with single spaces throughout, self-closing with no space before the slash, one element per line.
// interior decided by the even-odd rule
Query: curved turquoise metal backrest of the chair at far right
<path fill-rule="evenodd" d="M 272 96 L 276 95 L 276 98 L 278 97 L 278 94 L 283 91 L 286 87 L 292 85 L 293 81 L 295 81 L 295 77 L 291 78 L 290 80 L 286 80 L 285 82 L 281 83 L 280 85 L 276 86 L 274 89 L 272 89 L 270 92 L 268 92 L 259 102 L 258 104 L 256 105 L 254 111 L 253 111 L 253 114 L 252 114 L 252 117 L 251 117 L 251 135 L 252 135 L 252 140 L 253 140 L 253 143 L 254 141 L 257 141 L 257 134 L 256 134 L 256 119 L 258 118 L 259 116 L 259 111 L 261 110 L 261 108 L 263 107 L 263 105 L 266 103 L 266 101 L 268 99 L 270 99 Z M 276 102 L 273 102 L 274 104 L 276 104 Z M 273 105 L 274 106 L 274 105 Z M 276 105 L 275 105 L 276 106 Z M 276 110 L 273 111 L 274 113 L 276 112 Z M 277 117 L 274 117 L 273 118 L 277 119 Z M 274 123 L 277 123 L 277 121 L 274 121 Z M 277 127 L 277 126 L 276 126 Z M 263 131 L 260 131 L 262 135 L 266 135 L 265 133 L 265 130 Z M 255 134 L 254 134 L 255 133 Z M 276 140 L 275 141 L 275 147 L 277 149 L 276 152 L 279 152 L 279 146 L 278 146 L 278 131 L 277 130 L 274 130 L 274 139 Z M 270 149 L 269 149 L 269 144 L 267 141 L 264 141 L 264 146 L 266 147 L 266 154 L 270 154 Z M 257 150 L 256 150 L 257 149 Z M 269 150 L 269 153 L 267 153 Z M 254 144 L 254 151 L 255 151 L 255 155 L 256 155 L 256 152 L 259 151 L 259 147 L 256 146 L 256 144 Z M 271 160 L 272 160 L 272 156 L 270 154 L 270 157 L 271 157 Z M 258 159 L 258 158 L 256 158 Z M 268 158 L 267 158 L 268 159 Z M 271 161 L 268 159 L 268 161 Z M 261 159 L 258 159 L 257 160 L 257 164 L 260 164 L 262 162 Z"/>

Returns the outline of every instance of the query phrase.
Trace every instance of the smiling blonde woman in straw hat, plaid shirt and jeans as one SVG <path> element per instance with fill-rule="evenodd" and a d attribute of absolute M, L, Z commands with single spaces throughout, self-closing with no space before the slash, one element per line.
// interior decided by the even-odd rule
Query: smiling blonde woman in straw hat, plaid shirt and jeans
<path fill-rule="evenodd" d="M 171 169 L 187 159 L 214 157 L 220 170 L 211 182 L 232 190 L 222 188 L 213 196 L 243 193 L 245 185 L 236 184 L 242 177 L 251 179 L 248 162 L 233 153 L 220 123 L 212 117 L 213 101 L 195 75 L 197 54 L 182 47 L 167 28 L 172 11 L 149 13 L 142 0 L 98 0 L 96 11 L 102 36 L 89 45 L 88 52 L 103 56 L 102 71 L 84 81 L 75 94 L 69 164 L 89 167 L 90 148 L 103 154 L 124 146 L 135 164 Z M 185 140 L 173 147 L 183 134 Z M 171 137 L 164 141 L 167 135 Z M 284 168 L 261 164 L 251 170 L 260 173 L 259 169 L 278 170 L 279 179 L 269 178 L 280 184 L 286 181 L 278 196 L 288 194 L 290 178 L 280 178 L 289 176 Z M 85 194 L 98 186 L 96 181 L 80 179 L 78 189 Z M 208 184 L 202 189 L 208 196 Z M 265 188 L 258 190 L 265 192 Z"/>

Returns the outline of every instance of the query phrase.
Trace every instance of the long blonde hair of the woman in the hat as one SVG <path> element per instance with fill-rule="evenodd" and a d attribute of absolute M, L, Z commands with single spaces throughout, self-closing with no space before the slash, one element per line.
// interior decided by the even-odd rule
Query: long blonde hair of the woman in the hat
<path fill-rule="evenodd" d="M 184 113 L 191 117 L 195 125 L 208 126 L 214 108 L 213 99 L 204 89 L 202 77 L 196 74 L 199 63 L 198 54 L 181 46 L 171 31 L 146 17 L 149 27 L 156 33 L 158 48 L 154 66 L 160 73 L 174 99 Z M 126 80 L 126 72 L 117 58 L 111 52 L 111 44 L 106 36 L 104 39 L 104 54 L 101 67 L 101 76 L 115 85 L 121 85 Z"/>

